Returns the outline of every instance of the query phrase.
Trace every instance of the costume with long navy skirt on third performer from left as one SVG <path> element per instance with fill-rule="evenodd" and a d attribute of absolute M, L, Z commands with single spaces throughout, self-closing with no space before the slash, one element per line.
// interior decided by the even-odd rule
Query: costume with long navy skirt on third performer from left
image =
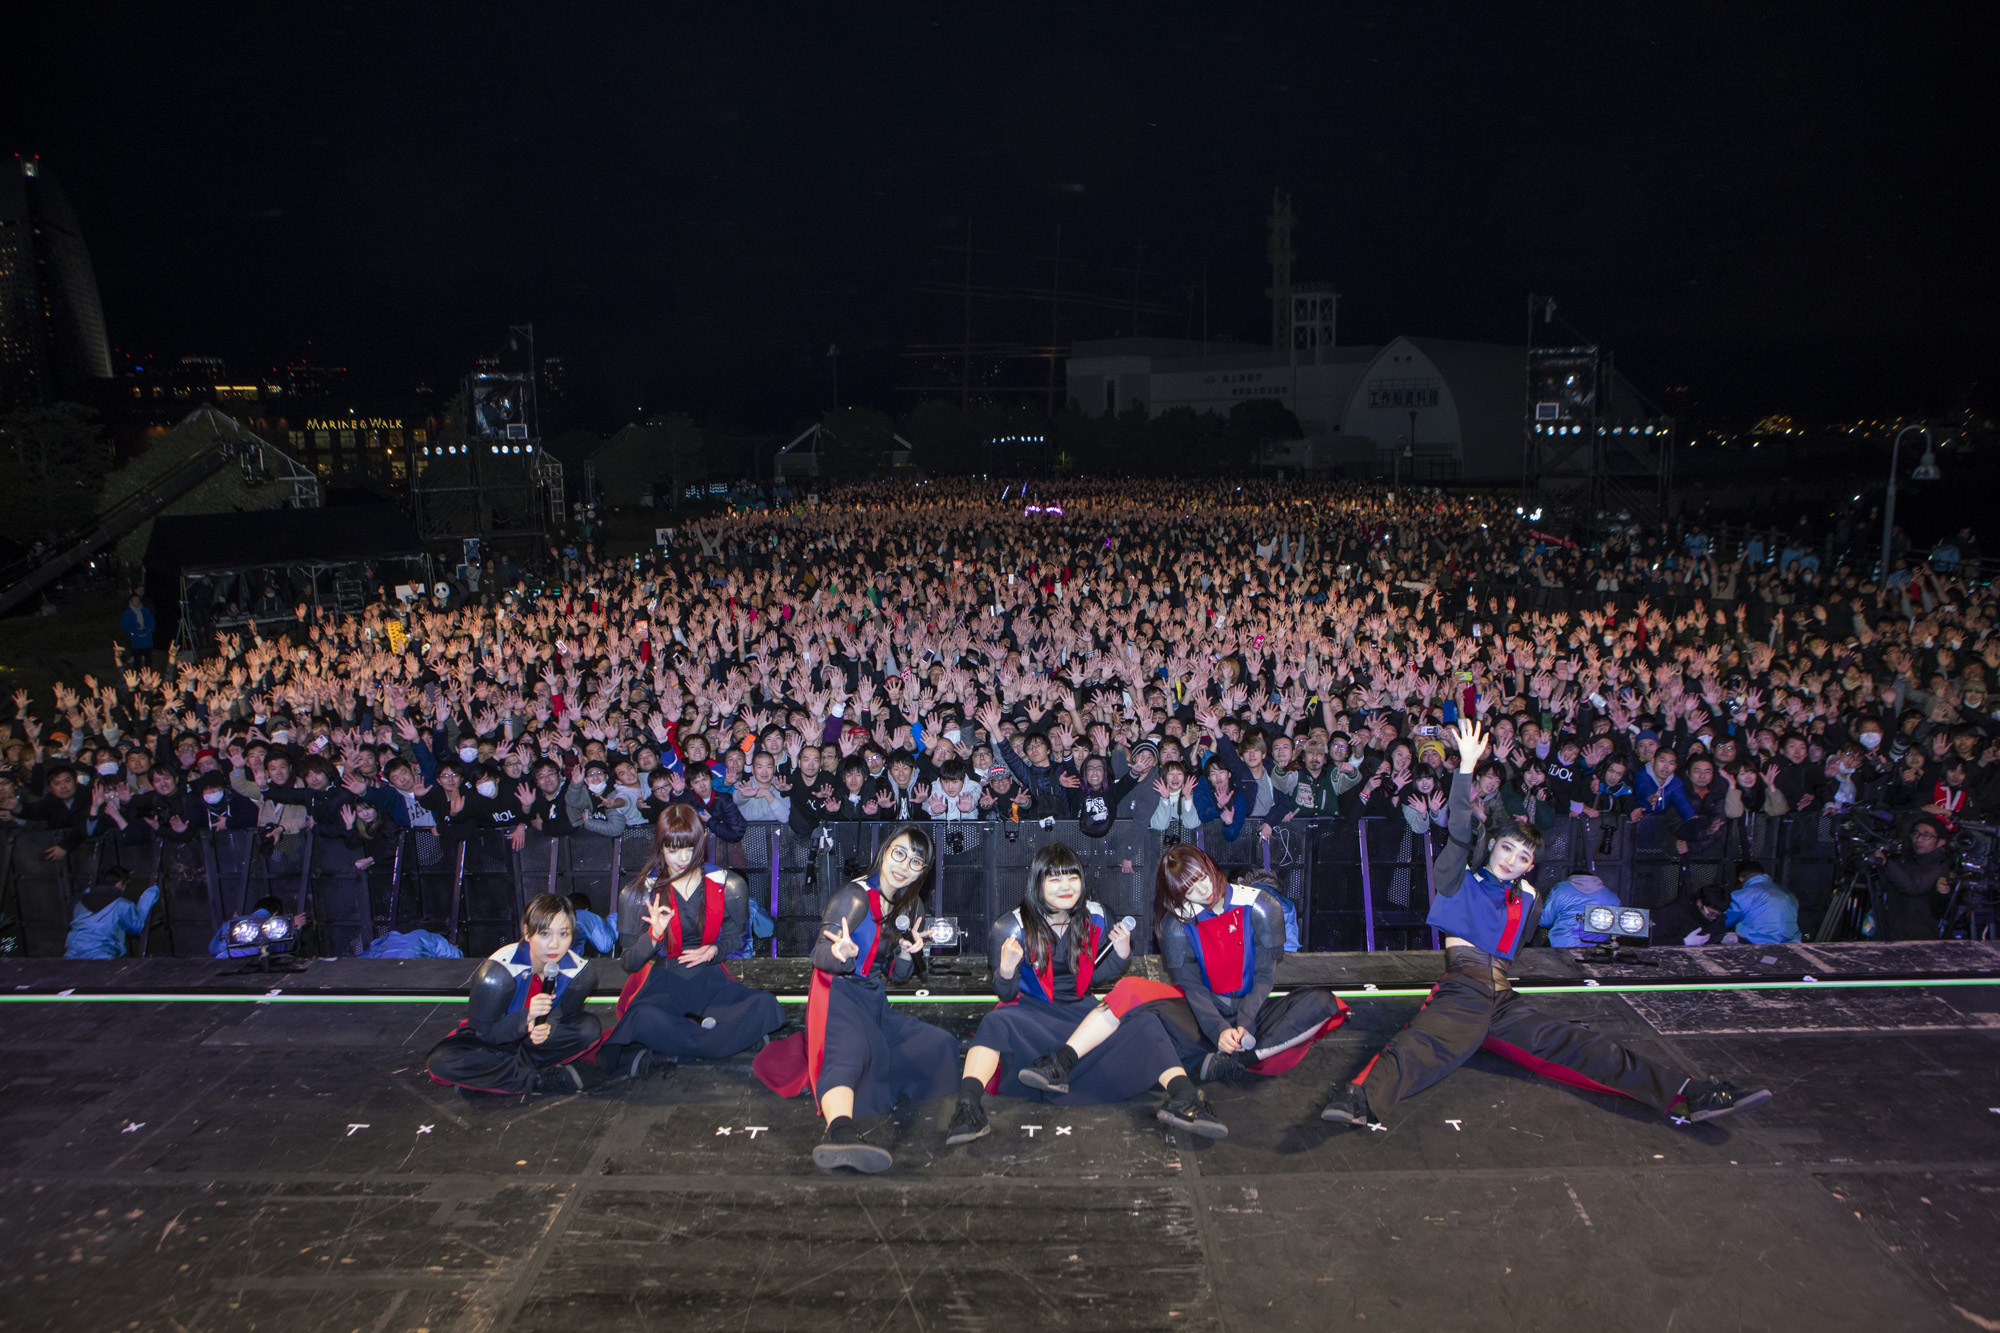
<path fill-rule="evenodd" d="M 830 935 L 846 925 L 860 945 L 854 959 L 836 959 Z M 948 1097 L 958 1087 L 958 1043 L 930 1023 L 890 1009 L 890 983 L 904 983 L 916 965 L 882 929 L 882 885 L 874 875 L 844 885 L 826 903 L 812 949 L 812 989 L 806 1031 L 764 1047 L 752 1069 L 780 1097 L 812 1089 L 854 1089 L 854 1115 L 884 1115 L 900 1097 Z"/>

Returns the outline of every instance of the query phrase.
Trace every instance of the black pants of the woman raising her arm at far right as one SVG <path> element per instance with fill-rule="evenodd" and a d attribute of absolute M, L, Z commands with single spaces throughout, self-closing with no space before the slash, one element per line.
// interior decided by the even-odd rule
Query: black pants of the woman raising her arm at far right
<path fill-rule="evenodd" d="M 1680 1099 L 1686 1075 L 1588 1027 L 1538 1013 L 1506 985 L 1506 963 L 1478 949 L 1446 949 L 1444 961 L 1450 971 L 1424 1007 L 1354 1079 L 1376 1119 L 1444 1079 L 1482 1045 L 1536 1073 L 1630 1097 L 1660 1113 Z"/>

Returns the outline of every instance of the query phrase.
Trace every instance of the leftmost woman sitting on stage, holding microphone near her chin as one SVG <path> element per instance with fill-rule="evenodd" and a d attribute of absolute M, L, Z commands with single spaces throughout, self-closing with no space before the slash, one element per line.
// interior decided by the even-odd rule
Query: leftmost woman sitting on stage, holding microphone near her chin
<path fill-rule="evenodd" d="M 598 1019 L 584 1013 L 598 973 L 570 949 L 574 937 L 564 899 L 542 893 L 528 903 L 520 943 L 480 963 L 470 1017 L 432 1047 L 424 1065 L 436 1083 L 508 1095 L 584 1089 L 574 1061 L 598 1043 Z"/>

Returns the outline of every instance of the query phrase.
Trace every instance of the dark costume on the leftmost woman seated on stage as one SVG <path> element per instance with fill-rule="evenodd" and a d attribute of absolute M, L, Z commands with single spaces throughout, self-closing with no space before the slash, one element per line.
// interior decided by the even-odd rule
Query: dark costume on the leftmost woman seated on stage
<path fill-rule="evenodd" d="M 528 1041 L 528 1001 L 544 989 L 528 941 L 496 949 L 472 973 L 470 1015 L 430 1049 L 424 1067 L 436 1083 L 474 1093 L 528 1093 L 544 1069 L 568 1065 L 598 1045 L 598 1017 L 584 1001 L 598 985 L 596 965 L 572 949 L 556 961 L 556 1005 L 548 1041 Z"/>

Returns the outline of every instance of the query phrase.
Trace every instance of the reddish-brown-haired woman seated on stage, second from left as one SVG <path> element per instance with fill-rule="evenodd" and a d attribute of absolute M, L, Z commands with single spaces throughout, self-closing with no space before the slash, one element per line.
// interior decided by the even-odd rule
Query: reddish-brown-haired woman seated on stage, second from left
<path fill-rule="evenodd" d="M 778 999 L 732 979 L 722 957 L 750 927 L 744 877 L 698 861 L 708 831 L 690 805 L 670 805 L 652 829 L 652 859 L 626 887 L 624 921 L 644 929 L 626 941 L 630 979 L 618 997 L 618 1027 L 598 1065 L 636 1079 L 654 1053 L 722 1059 L 784 1027 Z"/>

